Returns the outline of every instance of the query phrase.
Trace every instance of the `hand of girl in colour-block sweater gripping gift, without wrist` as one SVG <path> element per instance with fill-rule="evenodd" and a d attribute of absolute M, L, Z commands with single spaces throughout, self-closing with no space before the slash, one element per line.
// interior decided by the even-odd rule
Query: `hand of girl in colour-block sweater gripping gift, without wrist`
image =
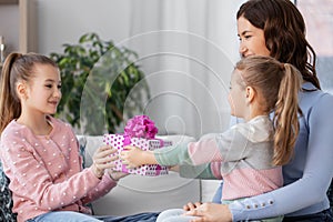
<path fill-rule="evenodd" d="M 144 152 L 139 148 L 128 145 L 120 153 L 120 158 L 122 163 L 128 168 L 138 168 L 144 164 Z"/>

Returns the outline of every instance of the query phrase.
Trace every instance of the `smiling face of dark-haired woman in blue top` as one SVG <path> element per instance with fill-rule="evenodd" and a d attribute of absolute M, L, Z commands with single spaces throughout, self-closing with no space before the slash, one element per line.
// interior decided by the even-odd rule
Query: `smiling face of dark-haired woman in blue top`
<path fill-rule="evenodd" d="M 244 17 L 238 20 L 238 36 L 240 37 L 240 54 L 241 57 L 249 56 L 266 56 L 269 57 L 270 50 L 265 46 L 264 32 L 251 24 Z"/>

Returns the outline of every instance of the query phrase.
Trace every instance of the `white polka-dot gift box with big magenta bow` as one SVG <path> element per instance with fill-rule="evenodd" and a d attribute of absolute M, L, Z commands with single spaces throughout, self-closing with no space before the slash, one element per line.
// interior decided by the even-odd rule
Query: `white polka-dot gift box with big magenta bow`
<path fill-rule="evenodd" d="M 135 115 L 128 121 L 123 134 L 104 134 L 103 142 L 118 149 L 117 155 L 123 150 L 125 145 L 133 145 L 142 150 L 155 150 L 163 147 L 172 145 L 171 141 L 163 141 L 155 139 L 158 129 L 154 122 L 147 115 Z M 128 169 L 122 164 L 122 160 L 115 161 L 117 171 L 122 171 L 139 175 L 163 175 L 168 174 L 168 168 L 158 164 L 145 164 L 140 168 Z"/>

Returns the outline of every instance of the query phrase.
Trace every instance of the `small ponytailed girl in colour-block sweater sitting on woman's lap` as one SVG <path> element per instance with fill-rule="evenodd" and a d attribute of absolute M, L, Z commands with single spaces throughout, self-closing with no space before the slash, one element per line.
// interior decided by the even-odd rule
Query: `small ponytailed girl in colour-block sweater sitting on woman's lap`
<path fill-rule="evenodd" d="M 231 114 L 244 119 L 244 123 L 215 138 L 155 151 L 128 147 L 121 154 L 123 163 L 132 168 L 181 165 L 182 176 L 223 179 L 225 204 L 275 190 L 283 185 L 282 165 L 292 159 L 299 134 L 301 82 L 302 75 L 292 64 L 261 56 L 242 59 L 232 73 L 229 102 Z M 192 168 L 182 165 L 204 168 L 193 175 Z M 167 210 L 158 222 L 195 219 L 184 213 L 181 209 Z M 282 216 L 262 221 L 278 222 Z"/>

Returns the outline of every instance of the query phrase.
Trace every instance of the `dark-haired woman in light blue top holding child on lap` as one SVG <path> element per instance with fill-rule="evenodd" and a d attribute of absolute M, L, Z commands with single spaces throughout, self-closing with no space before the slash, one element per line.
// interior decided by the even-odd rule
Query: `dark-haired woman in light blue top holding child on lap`
<path fill-rule="evenodd" d="M 270 56 L 302 73 L 299 100 L 303 114 L 294 157 L 283 165 L 281 189 L 230 205 L 189 203 L 184 209 L 199 216 L 194 221 L 245 221 L 281 214 L 284 221 L 333 221 L 326 195 L 333 172 L 333 97 L 321 91 L 304 19 L 290 0 L 249 0 L 236 19 L 241 57 Z"/>

